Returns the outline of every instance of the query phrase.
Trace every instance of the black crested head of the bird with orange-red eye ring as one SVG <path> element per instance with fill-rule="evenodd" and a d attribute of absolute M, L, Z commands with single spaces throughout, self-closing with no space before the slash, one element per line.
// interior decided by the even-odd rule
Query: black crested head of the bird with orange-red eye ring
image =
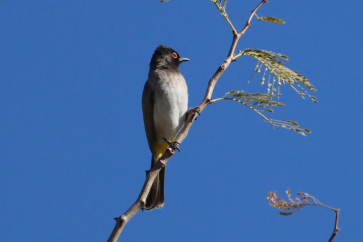
<path fill-rule="evenodd" d="M 183 61 L 189 61 L 189 59 L 180 57 L 178 52 L 168 46 L 159 45 L 151 57 L 150 69 L 166 67 L 178 70 L 180 62 Z"/>

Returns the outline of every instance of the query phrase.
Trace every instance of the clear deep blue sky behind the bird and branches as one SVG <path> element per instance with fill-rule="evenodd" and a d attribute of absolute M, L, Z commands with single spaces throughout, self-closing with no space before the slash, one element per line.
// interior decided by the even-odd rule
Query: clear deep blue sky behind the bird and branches
<path fill-rule="evenodd" d="M 228 1 L 242 29 L 255 0 Z M 315 85 L 319 101 L 281 88 L 303 137 L 274 130 L 238 103 L 208 106 L 167 164 L 165 206 L 138 212 L 120 241 L 327 241 L 334 212 L 317 206 L 280 216 L 277 190 L 306 192 L 340 208 L 334 241 L 363 237 L 362 10 L 360 1 L 269 1 L 238 49 L 289 56 L 286 66 Z M 141 94 L 155 47 L 171 46 L 189 106 L 203 99 L 227 56 L 231 30 L 211 1 L 0 2 L 0 241 L 106 241 L 114 217 L 142 188 L 150 151 Z M 239 89 L 252 57 L 233 62 L 213 97 Z"/>

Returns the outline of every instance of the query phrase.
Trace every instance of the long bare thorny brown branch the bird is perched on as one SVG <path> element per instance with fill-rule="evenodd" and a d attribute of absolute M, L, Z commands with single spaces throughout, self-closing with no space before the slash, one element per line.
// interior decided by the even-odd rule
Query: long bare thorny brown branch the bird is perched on
<path fill-rule="evenodd" d="M 213 89 L 214 89 L 219 77 L 223 74 L 224 70 L 227 69 L 229 64 L 233 61 L 233 55 L 234 55 L 234 51 L 236 50 L 238 40 L 242 37 L 242 35 L 246 32 L 246 30 L 251 26 L 250 22 L 252 20 L 254 13 L 257 11 L 258 8 L 261 7 L 262 4 L 267 3 L 267 2 L 268 2 L 267 0 L 262 0 L 261 3 L 258 4 L 257 7 L 255 9 L 253 9 L 253 11 L 251 12 L 251 15 L 249 16 L 249 18 L 246 22 L 246 25 L 241 30 L 241 32 L 233 35 L 231 48 L 229 49 L 227 58 L 222 63 L 222 65 L 220 65 L 218 67 L 216 73 L 209 80 L 204 99 L 196 107 L 196 109 L 199 111 L 199 113 L 201 111 L 203 111 L 203 109 L 205 107 L 208 106 L 208 104 L 212 98 Z M 185 137 L 188 135 L 189 128 L 191 127 L 195 118 L 196 118 L 196 112 L 195 111 L 189 112 L 188 118 L 185 121 L 184 126 L 181 128 L 178 136 L 175 139 L 176 142 L 181 143 L 185 139 Z M 125 227 L 126 223 L 136 214 L 136 212 L 138 212 L 138 210 L 144 208 L 144 205 L 146 203 L 146 198 L 150 192 L 152 182 L 154 181 L 155 177 L 159 174 L 160 169 L 162 169 L 166 165 L 167 161 L 174 154 L 174 152 L 175 151 L 173 149 L 167 148 L 166 151 L 164 152 L 163 156 L 160 157 L 160 160 L 158 160 L 154 164 L 154 166 L 149 171 L 146 172 L 146 179 L 145 179 L 144 185 L 141 189 L 138 199 L 123 215 L 115 218 L 116 225 L 115 225 L 109 239 L 107 240 L 107 242 L 116 242 L 119 235 L 121 234 L 122 229 Z"/>

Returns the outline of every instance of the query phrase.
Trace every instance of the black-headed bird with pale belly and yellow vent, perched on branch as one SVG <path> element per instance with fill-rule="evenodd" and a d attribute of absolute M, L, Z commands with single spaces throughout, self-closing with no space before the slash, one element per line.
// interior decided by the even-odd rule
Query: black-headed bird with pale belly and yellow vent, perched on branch
<path fill-rule="evenodd" d="M 159 45 L 152 54 L 147 81 L 142 93 L 142 112 L 147 142 L 152 153 L 151 168 L 166 148 L 174 146 L 186 119 L 188 88 L 179 72 L 181 62 L 189 61 L 178 52 Z M 159 171 L 146 198 L 145 210 L 164 206 L 165 167 Z"/>

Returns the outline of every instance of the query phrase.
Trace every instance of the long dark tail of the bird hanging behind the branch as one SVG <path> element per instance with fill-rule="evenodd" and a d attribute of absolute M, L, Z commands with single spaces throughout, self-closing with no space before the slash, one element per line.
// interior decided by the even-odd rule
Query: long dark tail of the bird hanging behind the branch
<path fill-rule="evenodd" d="M 156 161 L 155 156 L 151 156 L 151 168 Z M 154 182 L 152 182 L 149 195 L 146 198 L 145 210 L 162 208 L 164 206 L 164 179 L 165 167 L 160 170 L 159 176 L 156 176 Z"/>

